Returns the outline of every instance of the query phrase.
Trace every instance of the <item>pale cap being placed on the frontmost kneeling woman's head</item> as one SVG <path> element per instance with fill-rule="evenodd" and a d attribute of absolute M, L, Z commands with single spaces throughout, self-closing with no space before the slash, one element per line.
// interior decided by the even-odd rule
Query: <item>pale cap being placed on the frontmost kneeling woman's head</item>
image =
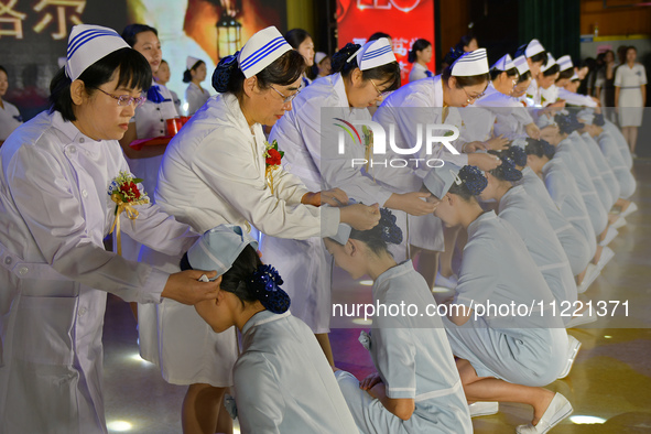
<path fill-rule="evenodd" d="M 216 270 L 219 276 L 230 270 L 249 245 L 258 249 L 258 242 L 241 227 L 219 225 L 204 232 L 189 248 L 187 261 L 195 270 Z"/>

